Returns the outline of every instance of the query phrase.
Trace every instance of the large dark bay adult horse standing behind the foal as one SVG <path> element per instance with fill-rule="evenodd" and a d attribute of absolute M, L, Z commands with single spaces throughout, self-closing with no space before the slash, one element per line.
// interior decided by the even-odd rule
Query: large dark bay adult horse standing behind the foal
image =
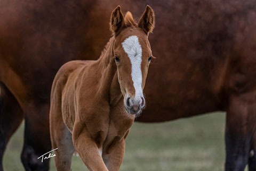
<path fill-rule="evenodd" d="M 138 17 L 149 4 L 158 14 L 149 38 L 157 59 L 149 70 L 148 103 L 139 121 L 226 111 L 226 170 L 243 170 L 247 163 L 256 170 L 255 1 L 0 4 L 1 160 L 25 117 L 22 163 L 26 170 L 48 167 L 37 157 L 51 149 L 49 100 L 55 73 L 71 59 L 99 56 L 110 35 L 106 28 L 112 8 L 122 5 L 123 11 L 131 9 Z"/>

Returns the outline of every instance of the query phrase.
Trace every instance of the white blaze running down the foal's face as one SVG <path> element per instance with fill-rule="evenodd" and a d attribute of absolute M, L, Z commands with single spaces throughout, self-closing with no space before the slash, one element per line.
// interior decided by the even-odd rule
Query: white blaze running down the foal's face
<path fill-rule="evenodd" d="M 142 74 L 141 74 L 141 58 L 142 49 L 137 36 L 130 36 L 122 42 L 124 51 L 130 58 L 132 64 L 132 81 L 135 89 L 134 101 L 140 101 L 143 97 L 142 92 Z"/>

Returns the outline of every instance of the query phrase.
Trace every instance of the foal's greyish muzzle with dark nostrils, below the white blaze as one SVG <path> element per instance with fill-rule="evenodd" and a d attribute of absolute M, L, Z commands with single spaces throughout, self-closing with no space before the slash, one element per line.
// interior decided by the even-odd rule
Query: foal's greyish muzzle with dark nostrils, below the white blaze
<path fill-rule="evenodd" d="M 139 114 L 141 110 L 145 107 L 145 98 L 143 96 L 132 98 L 131 96 L 127 96 L 124 98 L 124 106 L 126 111 L 129 114 Z"/>

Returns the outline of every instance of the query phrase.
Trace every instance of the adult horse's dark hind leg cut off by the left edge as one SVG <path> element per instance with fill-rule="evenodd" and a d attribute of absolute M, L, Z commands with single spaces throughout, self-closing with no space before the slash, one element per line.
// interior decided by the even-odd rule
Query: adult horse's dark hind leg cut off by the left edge
<path fill-rule="evenodd" d="M 0 170 L 3 170 L 3 155 L 7 142 L 23 119 L 18 101 L 6 86 L 0 82 Z"/>

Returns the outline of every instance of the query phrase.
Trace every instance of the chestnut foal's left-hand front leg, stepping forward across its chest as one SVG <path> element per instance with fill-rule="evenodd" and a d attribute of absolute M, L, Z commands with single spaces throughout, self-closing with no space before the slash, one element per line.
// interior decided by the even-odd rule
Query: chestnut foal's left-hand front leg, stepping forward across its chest
<path fill-rule="evenodd" d="M 76 123 L 73 130 L 73 144 L 89 170 L 108 171 L 103 162 L 96 140 L 82 123 Z"/>

